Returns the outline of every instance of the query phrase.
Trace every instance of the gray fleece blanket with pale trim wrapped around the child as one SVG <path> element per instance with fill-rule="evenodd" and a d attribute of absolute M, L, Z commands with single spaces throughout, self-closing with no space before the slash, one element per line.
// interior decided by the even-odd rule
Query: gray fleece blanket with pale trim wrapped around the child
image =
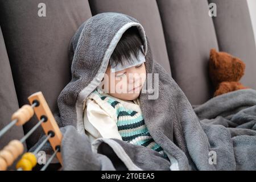
<path fill-rule="evenodd" d="M 169 160 L 118 139 L 100 138 L 90 143 L 85 134 L 84 100 L 100 84 L 115 46 L 131 26 L 138 28 L 143 40 L 146 72 L 159 76 L 158 84 L 139 96 L 142 114 L 151 137 Z M 192 107 L 172 77 L 152 60 L 142 25 L 124 14 L 102 13 L 86 20 L 73 36 L 69 50 L 72 80 L 60 93 L 60 117 L 56 116 L 64 136 L 64 170 L 256 169 L 255 90 L 223 94 Z M 149 99 L 152 95 L 158 98 Z"/>

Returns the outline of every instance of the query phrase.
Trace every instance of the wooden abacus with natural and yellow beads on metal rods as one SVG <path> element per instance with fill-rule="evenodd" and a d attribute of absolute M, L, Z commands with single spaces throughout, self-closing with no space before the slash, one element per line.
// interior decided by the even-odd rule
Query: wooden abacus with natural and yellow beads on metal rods
<path fill-rule="evenodd" d="M 54 153 L 48 159 L 47 163 L 41 169 L 45 170 L 51 163 L 52 159 L 56 156 L 62 165 L 62 159 L 60 154 L 61 139 L 62 134 L 57 126 L 55 118 L 52 115 L 51 110 L 42 94 L 42 92 L 36 92 L 28 97 L 28 101 L 31 105 L 23 105 L 19 110 L 17 110 L 11 117 L 11 122 L 9 125 L 5 126 L 0 131 L 0 138 L 14 125 L 22 126 L 24 123 L 28 122 L 34 113 L 39 119 L 39 122 L 32 127 L 30 131 L 20 140 L 12 140 L 0 151 L 0 171 L 5 171 L 9 166 L 11 166 L 20 155 L 23 154 L 24 146 L 23 142 L 26 141 L 28 137 L 39 127 L 42 126 L 44 133 L 46 134 L 46 139 L 35 149 L 34 152 L 26 152 L 22 155 L 18 163 L 16 163 L 16 169 L 18 171 L 31 171 L 33 167 L 37 164 L 36 154 L 44 146 L 44 144 L 49 140 Z"/>

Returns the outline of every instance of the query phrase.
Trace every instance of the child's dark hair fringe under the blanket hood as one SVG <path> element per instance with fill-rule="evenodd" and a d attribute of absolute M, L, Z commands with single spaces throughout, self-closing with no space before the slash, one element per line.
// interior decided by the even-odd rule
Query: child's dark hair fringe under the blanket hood
<path fill-rule="evenodd" d="M 130 59 L 131 54 L 134 54 L 138 59 L 139 51 L 142 51 L 142 45 L 143 44 L 141 36 L 139 35 L 138 28 L 130 27 L 123 33 L 110 59 L 114 61 L 115 66 L 118 63 L 121 63 L 123 65 L 123 60 L 126 60 L 130 63 L 132 62 L 132 60 Z"/>

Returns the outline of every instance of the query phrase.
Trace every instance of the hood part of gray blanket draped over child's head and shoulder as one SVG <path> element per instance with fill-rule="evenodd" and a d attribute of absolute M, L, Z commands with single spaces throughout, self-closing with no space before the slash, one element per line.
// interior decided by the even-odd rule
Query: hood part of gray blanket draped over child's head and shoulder
<path fill-rule="evenodd" d="M 150 57 L 148 60 L 151 60 L 144 29 L 138 20 L 131 16 L 102 13 L 81 24 L 69 45 L 72 80 L 58 98 L 61 126 L 73 125 L 79 133 L 84 133 L 83 102 L 100 85 L 103 78 L 101 73 L 106 72 L 110 56 L 122 34 L 133 26 L 138 28 L 143 51 L 146 57 Z M 148 72 L 152 72 L 151 65 L 152 63 L 148 63 Z"/>

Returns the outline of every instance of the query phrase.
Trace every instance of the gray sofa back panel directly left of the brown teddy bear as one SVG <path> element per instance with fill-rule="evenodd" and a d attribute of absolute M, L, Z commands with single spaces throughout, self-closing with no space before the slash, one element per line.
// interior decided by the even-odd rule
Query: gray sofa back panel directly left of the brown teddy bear
<path fill-rule="evenodd" d="M 158 0 L 172 77 L 191 104 L 213 93 L 208 75 L 209 52 L 218 49 L 207 0 Z"/>

